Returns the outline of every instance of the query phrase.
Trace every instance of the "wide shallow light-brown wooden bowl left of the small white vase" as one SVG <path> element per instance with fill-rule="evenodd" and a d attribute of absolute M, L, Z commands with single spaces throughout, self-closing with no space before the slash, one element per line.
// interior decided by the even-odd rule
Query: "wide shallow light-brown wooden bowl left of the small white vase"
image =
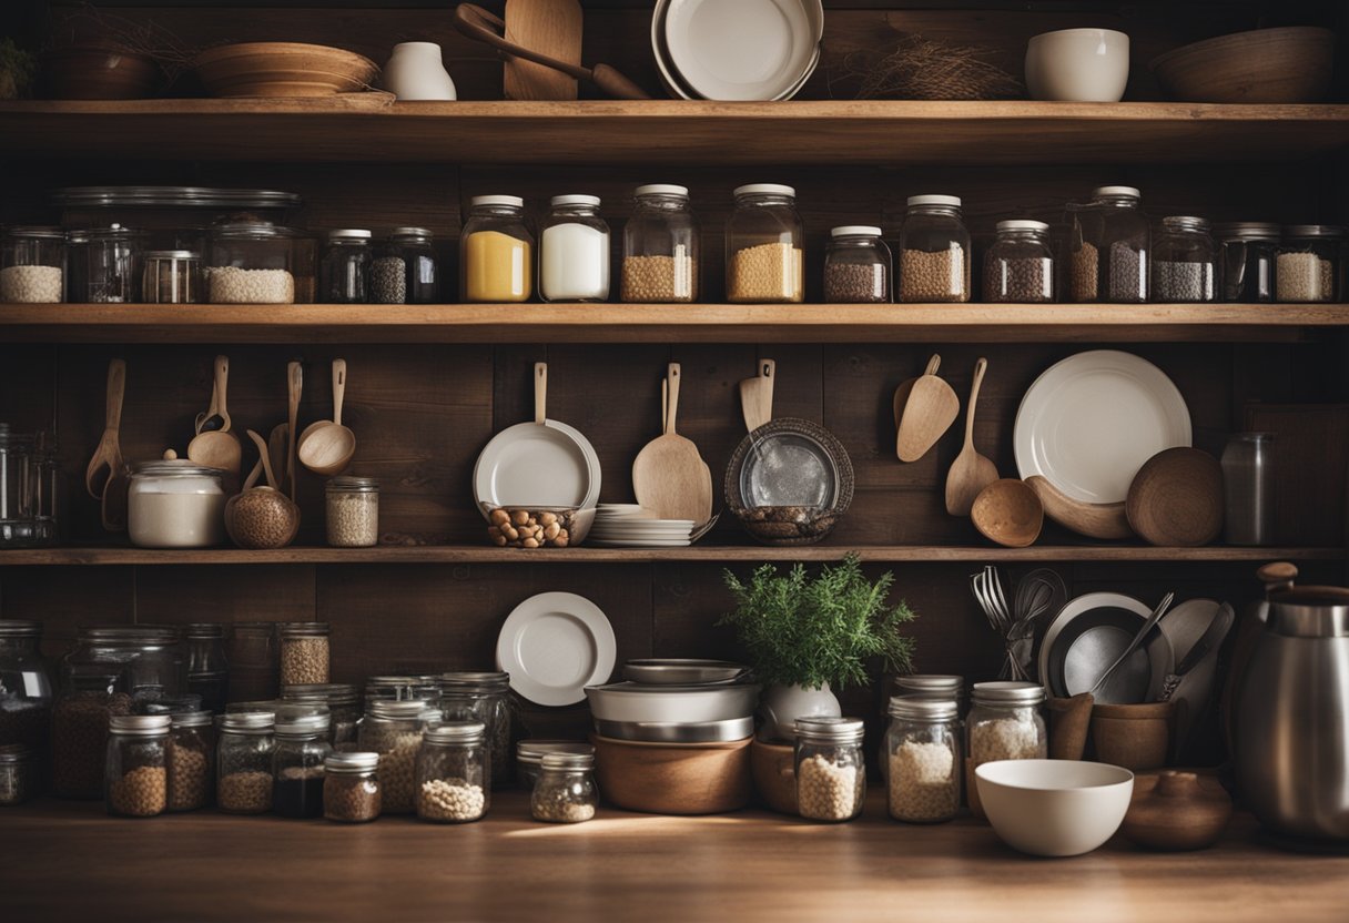
<path fill-rule="evenodd" d="M 206 49 L 193 62 L 212 96 L 333 96 L 356 93 L 379 67 L 355 51 L 299 42 L 241 42 Z"/>

